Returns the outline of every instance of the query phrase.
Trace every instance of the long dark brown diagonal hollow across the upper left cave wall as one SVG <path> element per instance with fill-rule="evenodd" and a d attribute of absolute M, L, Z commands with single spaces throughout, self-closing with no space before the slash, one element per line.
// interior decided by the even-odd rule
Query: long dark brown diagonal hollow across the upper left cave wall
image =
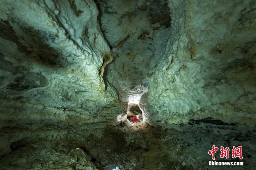
<path fill-rule="evenodd" d="M 29 37 L 29 40 L 32 40 L 31 42 L 26 42 L 30 45 L 30 49 L 23 45 L 24 38 L 16 35 L 9 21 L 0 19 L 0 36 L 5 40 L 14 42 L 18 46 L 18 50 L 24 53 L 32 63 L 35 62 L 53 69 L 64 68 L 71 64 L 66 56 L 72 57 L 74 54 L 71 52 L 62 54 L 49 45 L 50 42 L 54 43 L 59 39 L 58 34 L 53 34 L 50 31 L 35 30 L 30 26 L 20 26 L 20 29 L 25 33 L 25 36 Z"/>

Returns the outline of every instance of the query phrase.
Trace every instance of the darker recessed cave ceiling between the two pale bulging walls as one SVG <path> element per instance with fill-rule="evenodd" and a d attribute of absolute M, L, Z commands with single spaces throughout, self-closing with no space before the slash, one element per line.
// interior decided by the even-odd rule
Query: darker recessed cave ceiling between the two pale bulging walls
<path fill-rule="evenodd" d="M 119 100 L 128 102 L 129 97 L 147 92 L 147 74 L 163 55 L 172 32 L 168 1 L 95 1 L 113 56 L 106 77 Z"/>

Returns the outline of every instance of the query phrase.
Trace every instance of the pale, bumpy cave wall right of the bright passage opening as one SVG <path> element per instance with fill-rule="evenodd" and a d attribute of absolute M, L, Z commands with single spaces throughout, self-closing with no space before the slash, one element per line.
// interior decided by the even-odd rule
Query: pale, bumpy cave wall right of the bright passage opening
<path fill-rule="evenodd" d="M 172 35 L 141 100 L 148 121 L 210 116 L 255 126 L 255 1 L 170 0 L 169 8 Z"/>

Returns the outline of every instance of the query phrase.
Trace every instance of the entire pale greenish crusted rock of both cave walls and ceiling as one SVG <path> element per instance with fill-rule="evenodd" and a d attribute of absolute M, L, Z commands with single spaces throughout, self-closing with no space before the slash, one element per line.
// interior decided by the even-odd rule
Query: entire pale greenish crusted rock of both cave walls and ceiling
<path fill-rule="evenodd" d="M 254 0 L 2 0 L 0 156 L 17 141 L 100 135 L 143 93 L 153 125 L 255 126 L 255 9 Z"/>

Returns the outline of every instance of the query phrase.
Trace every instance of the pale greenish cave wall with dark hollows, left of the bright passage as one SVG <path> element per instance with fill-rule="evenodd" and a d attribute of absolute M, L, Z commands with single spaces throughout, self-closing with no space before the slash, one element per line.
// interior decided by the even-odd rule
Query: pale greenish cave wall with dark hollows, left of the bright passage
<path fill-rule="evenodd" d="M 0 13 L 0 156 L 24 138 L 115 119 L 122 107 L 103 80 L 112 56 L 94 1 L 4 0 Z"/>

